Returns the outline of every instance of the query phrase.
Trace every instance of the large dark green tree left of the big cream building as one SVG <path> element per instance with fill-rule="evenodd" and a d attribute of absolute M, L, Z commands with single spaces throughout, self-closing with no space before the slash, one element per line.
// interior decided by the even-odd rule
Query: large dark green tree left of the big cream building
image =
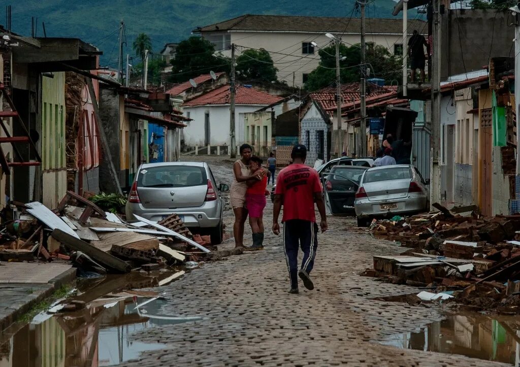
<path fill-rule="evenodd" d="M 202 37 L 189 37 L 179 43 L 175 58 L 171 60 L 172 83 L 186 82 L 190 78 L 214 72 L 229 71 L 230 61 L 222 55 L 216 57 L 215 46 Z"/>

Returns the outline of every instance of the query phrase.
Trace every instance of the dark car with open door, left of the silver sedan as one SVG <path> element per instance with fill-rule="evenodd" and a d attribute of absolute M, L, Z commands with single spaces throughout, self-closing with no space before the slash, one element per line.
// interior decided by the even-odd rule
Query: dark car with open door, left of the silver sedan
<path fill-rule="evenodd" d="M 334 166 L 323 174 L 332 214 L 353 214 L 359 182 L 368 167 Z"/>

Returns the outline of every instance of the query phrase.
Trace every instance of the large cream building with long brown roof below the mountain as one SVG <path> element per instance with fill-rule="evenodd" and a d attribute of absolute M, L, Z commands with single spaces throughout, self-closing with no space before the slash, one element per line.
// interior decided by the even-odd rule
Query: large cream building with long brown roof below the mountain
<path fill-rule="evenodd" d="M 402 19 L 367 18 L 365 21 L 366 42 L 388 48 L 391 53 L 402 55 Z M 237 55 L 248 48 L 264 48 L 269 51 L 278 78 L 289 85 L 300 86 L 307 75 L 318 67 L 318 47 L 325 47 L 331 39 L 325 33 L 341 37 L 346 45 L 360 43 L 361 22 L 359 18 L 298 17 L 246 14 L 216 24 L 193 30 L 224 50 L 229 56 L 233 43 Z M 427 23 L 422 20 L 408 21 L 411 34 L 417 29 L 427 33 Z"/>

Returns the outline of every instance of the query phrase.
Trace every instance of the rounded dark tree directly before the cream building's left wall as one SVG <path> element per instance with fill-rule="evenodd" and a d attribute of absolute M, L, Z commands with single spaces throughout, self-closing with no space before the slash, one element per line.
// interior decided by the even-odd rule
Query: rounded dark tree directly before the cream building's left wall
<path fill-rule="evenodd" d="M 245 50 L 237 57 L 236 72 L 241 79 L 261 79 L 268 82 L 277 81 L 276 72 L 271 55 L 265 49 Z"/>

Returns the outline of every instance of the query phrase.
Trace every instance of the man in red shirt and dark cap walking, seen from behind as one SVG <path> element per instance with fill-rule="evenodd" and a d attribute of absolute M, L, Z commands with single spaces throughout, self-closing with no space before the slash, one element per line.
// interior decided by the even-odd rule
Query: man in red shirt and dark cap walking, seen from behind
<path fill-rule="evenodd" d="M 280 234 L 278 216 L 283 204 L 283 250 L 291 278 L 289 293 L 297 294 L 298 276 L 302 278 L 308 290 L 314 289 L 309 273 L 313 270 L 318 248 L 315 202 L 321 217 L 321 232 L 327 230 L 327 217 L 318 173 L 305 165 L 307 148 L 304 145 L 295 145 L 291 158 L 293 163 L 280 171 L 276 181 L 272 232 L 276 235 Z M 298 271 L 298 247 L 302 247 L 303 251 L 300 271 Z"/>

